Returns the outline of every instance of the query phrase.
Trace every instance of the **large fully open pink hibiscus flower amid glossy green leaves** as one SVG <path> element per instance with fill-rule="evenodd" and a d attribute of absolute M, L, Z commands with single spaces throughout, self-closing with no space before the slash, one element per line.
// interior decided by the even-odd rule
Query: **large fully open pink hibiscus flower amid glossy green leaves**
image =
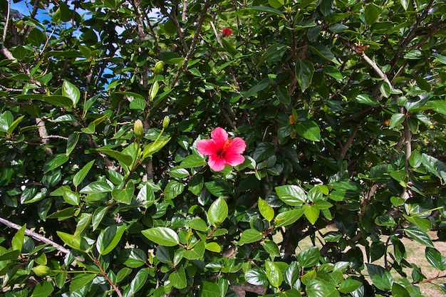
<path fill-rule="evenodd" d="M 244 162 L 243 152 L 247 147 L 242 138 L 228 138 L 228 133 L 221 127 L 211 132 L 212 139 L 200 140 L 197 150 L 202 155 L 208 155 L 207 164 L 214 171 L 224 169 L 224 165 L 237 166 Z"/>

